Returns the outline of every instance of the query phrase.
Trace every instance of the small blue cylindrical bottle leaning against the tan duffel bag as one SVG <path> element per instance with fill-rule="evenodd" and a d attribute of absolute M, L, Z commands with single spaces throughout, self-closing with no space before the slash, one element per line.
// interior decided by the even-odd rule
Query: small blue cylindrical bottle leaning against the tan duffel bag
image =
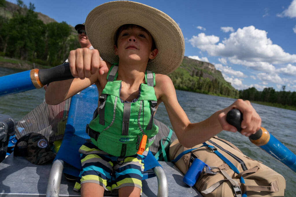
<path fill-rule="evenodd" d="M 202 160 L 195 158 L 186 172 L 183 182 L 192 187 L 196 183 L 200 173 L 202 172 L 202 169 L 205 166 L 207 165 Z"/>

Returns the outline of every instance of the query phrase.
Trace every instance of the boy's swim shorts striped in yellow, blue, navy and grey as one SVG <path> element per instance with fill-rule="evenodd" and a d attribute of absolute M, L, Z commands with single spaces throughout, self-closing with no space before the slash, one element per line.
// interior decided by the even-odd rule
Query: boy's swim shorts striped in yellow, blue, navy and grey
<path fill-rule="evenodd" d="M 81 173 L 75 183 L 74 191 L 79 191 L 83 183 L 97 183 L 104 187 L 105 195 L 118 194 L 118 189 L 124 186 L 134 186 L 142 190 L 144 158 L 148 153 L 120 157 L 109 155 L 99 150 L 91 142 L 84 143 L 80 149 Z M 142 193 L 142 191 L 141 191 Z"/>

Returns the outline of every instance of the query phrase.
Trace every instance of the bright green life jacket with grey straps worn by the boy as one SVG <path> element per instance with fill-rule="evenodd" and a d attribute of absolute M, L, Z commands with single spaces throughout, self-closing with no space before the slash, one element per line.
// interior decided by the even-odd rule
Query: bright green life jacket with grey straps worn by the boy
<path fill-rule="evenodd" d="M 153 88 L 155 73 L 146 70 L 146 84 L 141 83 L 138 98 L 128 102 L 120 99 L 121 81 L 116 81 L 117 71 L 118 65 L 112 65 L 106 86 L 99 97 L 98 115 L 94 114 L 86 132 L 100 150 L 125 157 L 137 153 L 144 134 L 147 135 L 147 148 L 158 133 L 158 127 L 153 123 L 157 104 Z"/>

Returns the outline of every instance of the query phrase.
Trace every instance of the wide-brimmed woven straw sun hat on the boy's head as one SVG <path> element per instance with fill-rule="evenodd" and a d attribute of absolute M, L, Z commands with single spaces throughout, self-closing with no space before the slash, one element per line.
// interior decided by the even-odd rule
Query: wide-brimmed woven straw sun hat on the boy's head
<path fill-rule="evenodd" d="M 158 54 L 147 64 L 147 70 L 168 74 L 181 64 L 184 37 L 177 23 L 164 12 L 133 1 L 111 1 L 95 7 L 86 17 L 85 28 L 92 46 L 103 60 L 118 63 L 114 37 L 124 24 L 144 27 L 152 35 Z"/>

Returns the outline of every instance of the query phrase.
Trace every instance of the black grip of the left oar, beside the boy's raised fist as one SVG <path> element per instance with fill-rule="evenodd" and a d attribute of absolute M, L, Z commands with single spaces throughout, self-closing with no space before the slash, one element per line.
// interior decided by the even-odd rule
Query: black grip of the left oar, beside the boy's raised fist
<path fill-rule="evenodd" d="M 53 81 L 63 81 L 74 78 L 70 71 L 69 63 L 55 66 L 49 69 L 40 69 L 38 71 L 39 80 L 43 85 Z"/>

